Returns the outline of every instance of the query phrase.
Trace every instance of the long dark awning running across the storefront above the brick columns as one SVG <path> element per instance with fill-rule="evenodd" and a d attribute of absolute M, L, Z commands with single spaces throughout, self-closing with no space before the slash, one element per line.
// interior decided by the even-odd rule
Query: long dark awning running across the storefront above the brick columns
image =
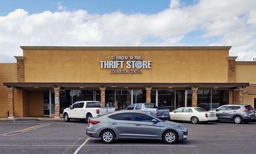
<path fill-rule="evenodd" d="M 247 87 L 249 83 L 85 83 L 85 82 L 4 82 L 6 87 L 16 87 L 20 89 L 26 88 L 52 88 L 60 86 L 62 88 L 145 88 L 152 87 L 153 89 L 175 89 L 175 88 L 230 88 Z"/>

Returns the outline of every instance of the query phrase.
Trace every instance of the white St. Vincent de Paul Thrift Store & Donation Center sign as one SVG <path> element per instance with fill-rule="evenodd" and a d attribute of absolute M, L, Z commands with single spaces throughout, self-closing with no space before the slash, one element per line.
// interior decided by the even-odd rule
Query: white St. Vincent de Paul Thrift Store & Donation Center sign
<path fill-rule="evenodd" d="M 141 74 L 143 69 L 151 69 L 151 61 L 143 61 L 141 56 L 111 56 L 111 61 L 99 62 L 111 74 Z"/>

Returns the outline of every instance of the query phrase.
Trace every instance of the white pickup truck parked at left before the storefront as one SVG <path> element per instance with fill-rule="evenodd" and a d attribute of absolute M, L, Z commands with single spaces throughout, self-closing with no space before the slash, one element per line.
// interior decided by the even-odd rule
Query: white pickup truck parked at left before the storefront
<path fill-rule="evenodd" d="M 102 108 L 100 102 L 97 101 L 80 101 L 75 102 L 70 108 L 65 108 L 63 117 L 65 122 L 69 122 L 70 119 L 87 121 L 88 118 L 97 117 L 113 111 L 115 111 L 115 108 Z"/>

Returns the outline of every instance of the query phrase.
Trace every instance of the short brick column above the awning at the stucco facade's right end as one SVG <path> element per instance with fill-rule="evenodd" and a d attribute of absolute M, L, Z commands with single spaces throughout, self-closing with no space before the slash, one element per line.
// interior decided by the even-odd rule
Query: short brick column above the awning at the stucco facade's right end
<path fill-rule="evenodd" d="M 227 58 L 227 82 L 236 82 L 236 56 Z"/>

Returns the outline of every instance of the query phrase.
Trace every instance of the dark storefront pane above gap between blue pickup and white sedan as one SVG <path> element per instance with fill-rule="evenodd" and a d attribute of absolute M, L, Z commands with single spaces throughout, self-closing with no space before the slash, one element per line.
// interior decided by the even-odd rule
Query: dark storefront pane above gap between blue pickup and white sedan
<path fill-rule="evenodd" d="M 175 110 L 175 90 L 158 90 L 158 106 Z"/>

